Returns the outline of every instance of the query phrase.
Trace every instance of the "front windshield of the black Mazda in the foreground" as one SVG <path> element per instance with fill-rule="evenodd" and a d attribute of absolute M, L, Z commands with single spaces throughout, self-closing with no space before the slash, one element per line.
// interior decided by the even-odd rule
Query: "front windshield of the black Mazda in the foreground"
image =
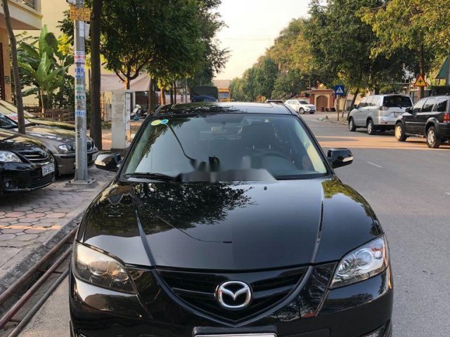
<path fill-rule="evenodd" d="M 147 124 L 122 175 L 265 169 L 276 179 L 327 173 L 307 131 L 294 116 L 212 114 Z"/>

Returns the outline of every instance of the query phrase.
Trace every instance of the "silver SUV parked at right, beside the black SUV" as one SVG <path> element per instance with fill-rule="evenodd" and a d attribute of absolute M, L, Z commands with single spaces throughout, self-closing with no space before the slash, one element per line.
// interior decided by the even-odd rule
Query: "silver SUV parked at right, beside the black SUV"
<path fill-rule="evenodd" d="M 377 131 L 394 130 L 397 117 L 412 106 L 413 102 L 407 95 L 364 97 L 349 114 L 349 130 L 367 128 L 369 135 L 374 135 Z"/>

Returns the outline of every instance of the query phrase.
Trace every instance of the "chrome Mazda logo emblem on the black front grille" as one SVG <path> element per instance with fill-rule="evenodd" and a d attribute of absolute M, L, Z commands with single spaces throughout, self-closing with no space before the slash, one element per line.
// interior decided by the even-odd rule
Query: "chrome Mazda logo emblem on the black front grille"
<path fill-rule="evenodd" d="M 252 300 L 250 286 L 240 281 L 228 281 L 217 287 L 216 299 L 226 309 L 242 309 Z"/>

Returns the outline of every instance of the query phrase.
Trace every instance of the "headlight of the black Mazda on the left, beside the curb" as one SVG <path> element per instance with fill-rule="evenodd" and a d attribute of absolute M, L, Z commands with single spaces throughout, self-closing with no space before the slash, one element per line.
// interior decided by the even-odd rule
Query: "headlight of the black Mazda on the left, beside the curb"
<path fill-rule="evenodd" d="M 73 270 L 79 279 L 103 288 L 136 293 L 124 265 L 105 253 L 75 242 Z"/>

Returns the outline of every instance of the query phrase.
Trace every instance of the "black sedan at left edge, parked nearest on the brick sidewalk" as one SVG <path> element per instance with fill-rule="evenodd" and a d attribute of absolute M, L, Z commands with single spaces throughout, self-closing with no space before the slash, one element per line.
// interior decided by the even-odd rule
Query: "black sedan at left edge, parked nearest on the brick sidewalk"
<path fill-rule="evenodd" d="M 44 145 L 0 129 L 0 193 L 36 190 L 54 180 L 55 162 Z"/>

